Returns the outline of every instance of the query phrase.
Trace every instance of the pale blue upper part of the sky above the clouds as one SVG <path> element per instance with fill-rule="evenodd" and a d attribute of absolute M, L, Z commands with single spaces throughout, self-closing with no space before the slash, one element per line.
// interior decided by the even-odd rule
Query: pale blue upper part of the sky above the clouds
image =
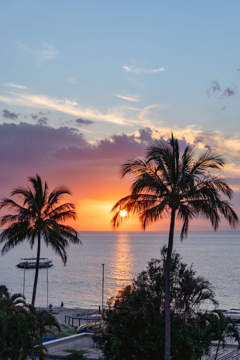
<path fill-rule="evenodd" d="M 105 128 L 106 135 L 131 133 L 138 124 L 238 131 L 238 2 L 9 1 L 1 8 L 2 96 L 16 91 L 6 87 L 13 83 L 27 87 L 24 94 L 127 119 L 116 127 L 114 116 L 102 124 L 83 111 L 99 137 Z M 207 96 L 213 81 L 222 91 Z M 235 95 L 222 96 L 228 88 Z M 21 113 L 34 108 L 34 101 L 12 102 Z M 147 108 L 146 121 L 129 108 Z M 55 126 L 75 118 L 48 110 Z"/>

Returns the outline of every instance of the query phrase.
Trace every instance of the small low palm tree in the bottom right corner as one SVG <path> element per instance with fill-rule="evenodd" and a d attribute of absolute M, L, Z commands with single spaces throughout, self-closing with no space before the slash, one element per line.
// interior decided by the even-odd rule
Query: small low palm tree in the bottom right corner
<path fill-rule="evenodd" d="M 220 310 L 213 310 L 212 313 L 206 314 L 206 319 L 210 324 L 212 339 L 218 341 L 214 360 L 217 360 L 220 344 L 222 343 L 224 348 L 227 339 L 237 341 L 239 349 L 240 336 L 230 317 L 226 317 Z"/>

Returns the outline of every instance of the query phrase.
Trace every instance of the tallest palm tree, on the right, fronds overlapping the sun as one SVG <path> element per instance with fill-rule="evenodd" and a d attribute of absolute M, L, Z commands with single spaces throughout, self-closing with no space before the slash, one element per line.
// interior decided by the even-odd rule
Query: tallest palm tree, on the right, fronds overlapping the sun
<path fill-rule="evenodd" d="M 221 217 L 235 228 L 238 218 L 228 201 L 232 190 L 226 180 L 212 175 L 211 170 L 224 166 L 223 156 L 206 150 L 195 157 L 191 146 L 180 154 L 179 142 L 156 140 L 145 159 L 131 158 L 121 167 L 122 178 L 134 176 L 130 195 L 120 199 L 112 208 L 112 227 L 126 219 L 123 210 L 137 214 L 142 229 L 170 215 L 168 252 L 165 264 L 165 360 L 170 360 L 170 271 L 175 219 L 183 222 L 181 239 L 187 236 L 189 221 L 202 217 L 211 221 L 217 230 Z M 128 217 L 127 216 L 127 217 Z"/>

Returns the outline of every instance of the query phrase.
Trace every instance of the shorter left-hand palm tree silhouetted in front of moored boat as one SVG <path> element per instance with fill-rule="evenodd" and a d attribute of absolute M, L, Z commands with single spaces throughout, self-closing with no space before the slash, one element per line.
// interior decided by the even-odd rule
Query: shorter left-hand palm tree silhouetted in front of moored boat
<path fill-rule="evenodd" d="M 47 247 L 61 257 L 63 263 L 67 261 L 66 248 L 70 244 L 82 244 L 76 230 L 63 222 L 75 219 L 75 207 L 71 203 L 62 204 L 62 196 L 70 194 L 64 187 L 56 187 L 51 193 L 48 185 L 43 184 L 41 178 L 36 174 L 29 177 L 30 187 L 17 187 L 11 192 L 11 196 L 17 195 L 23 200 L 23 204 L 17 204 L 13 199 L 3 198 L 0 209 L 7 208 L 13 214 L 2 216 L 1 226 L 8 226 L 0 235 L 0 243 L 4 243 L 2 255 L 10 249 L 21 244 L 25 240 L 32 249 L 37 243 L 36 270 L 32 292 L 32 305 L 35 303 L 36 286 L 39 269 L 39 258 L 41 252 L 41 239 Z"/>

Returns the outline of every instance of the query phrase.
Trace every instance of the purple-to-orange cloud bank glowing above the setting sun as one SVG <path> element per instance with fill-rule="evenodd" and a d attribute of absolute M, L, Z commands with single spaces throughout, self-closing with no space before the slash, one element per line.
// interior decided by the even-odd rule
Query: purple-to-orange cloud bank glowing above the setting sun
<path fill-rule="evenodd" d="M 161 134 L 159 134 L 159 138 Z M 194 145 L 204 143 L 205 135 L 195 138 Z M 0 198 L 9 196 L 17 185 L 26 185 L 28 176 L 38 173 L 50 187 L 57 184 L 69 186 L 73 194 L 82 198 L 115 198 L 129 192 L 131 177 L 119 179 L 119 166 L 132 156 L 144 156 L 146 148 L 154 141 L 149 128 L 137 135 L 118 134 L 90 144 L 75 128 L 58 129 L 46 126 L 45 121 L 0 125 L 1 190 Z M 180 140 L 183 149 L 185 140 Z M 209 148 L 206 142 L 206 148 Z M 238 184 L 239 179 L 229 179 Z M 79 197 L 73 198 L 77 202 Z M 117 199 L 115 199 L 117 200 Z M 71 199 L 72 201 L 72 199 Z M 234 203 L 240 201 L 236 192 Z M 238 207 L 238 206 L 237 206 Z M 236 209 L 237 210 L 237 209 Z"/>

